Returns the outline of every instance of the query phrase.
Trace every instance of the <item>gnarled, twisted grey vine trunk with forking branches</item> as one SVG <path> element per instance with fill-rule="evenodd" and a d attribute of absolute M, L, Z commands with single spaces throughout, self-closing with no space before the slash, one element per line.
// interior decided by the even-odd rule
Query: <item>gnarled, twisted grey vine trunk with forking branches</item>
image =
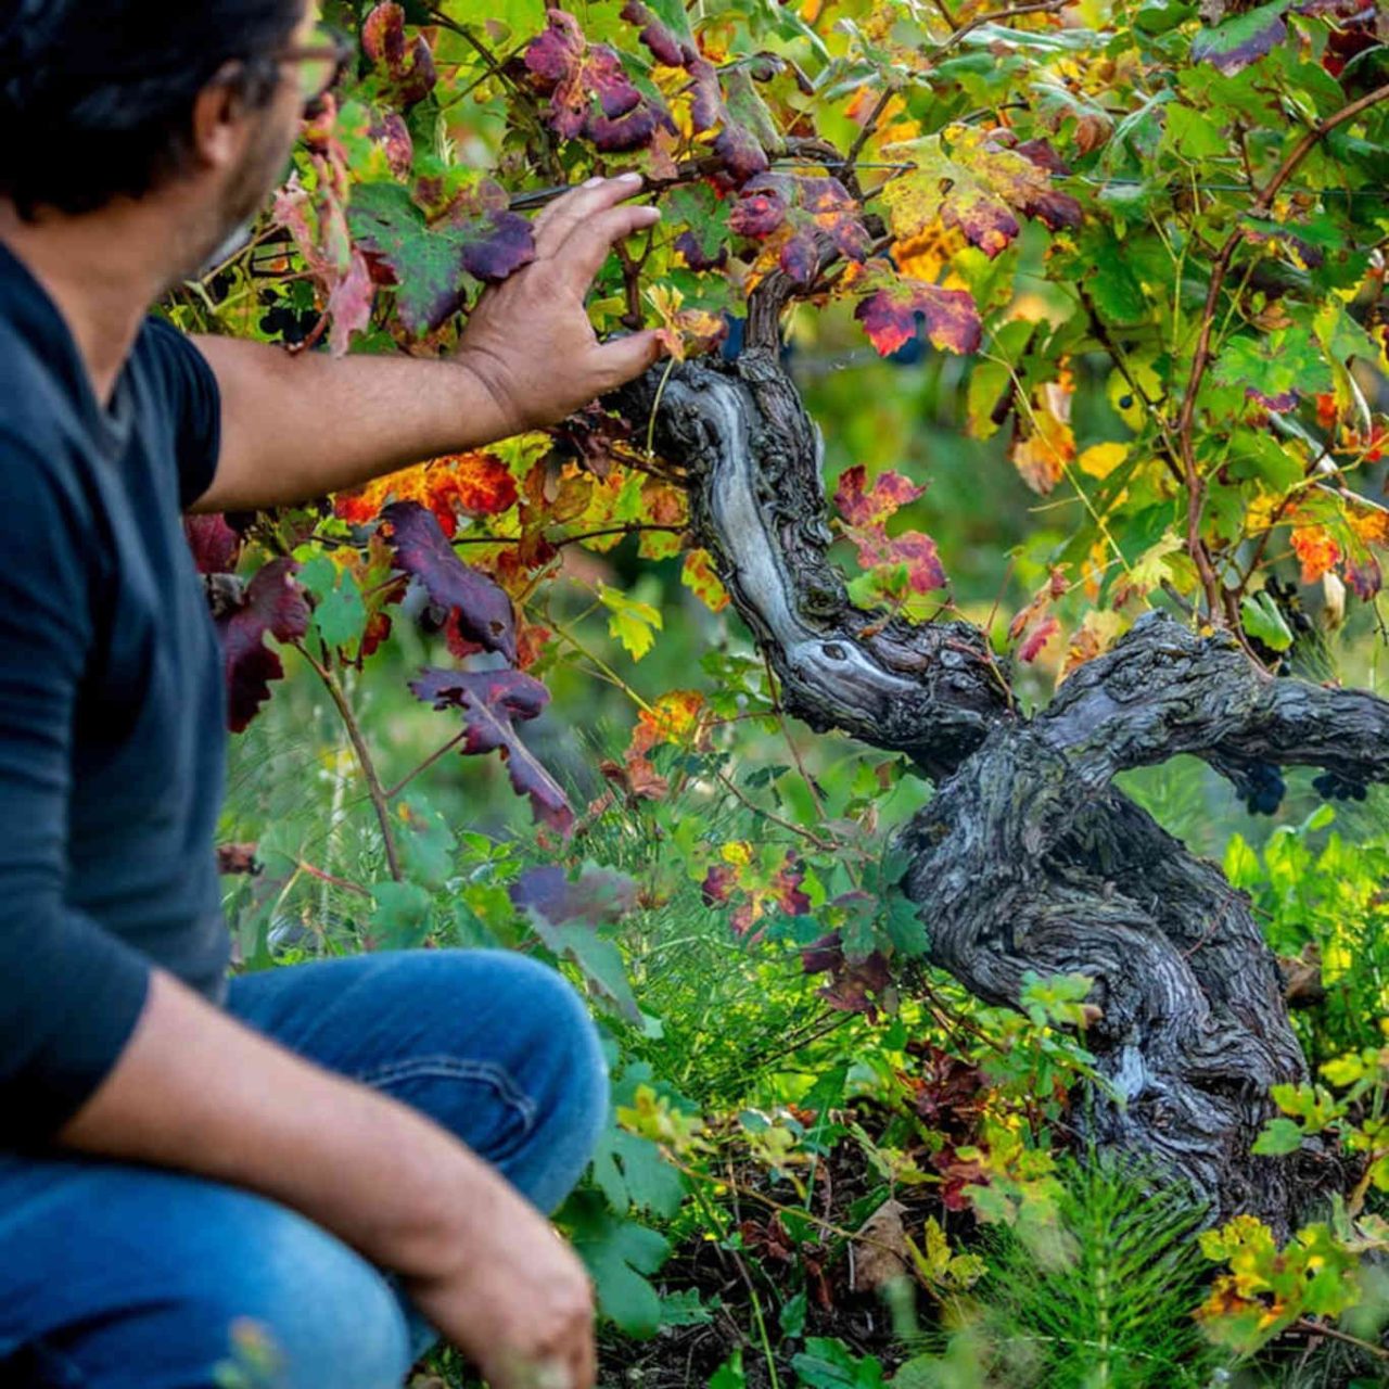
<path fill-rule="evenodd" d="M 1286 1232 L 1315 1153 L 1254 1157 L 1268 1086 L 1306 1063 L 1249 900 L 1111 782 L 1179 753 L 1236 785 L 1308 764 L 1389 781 L 1389 703 L 1260 671 L 1228 635 L 1149 614 L 1032 720 L 982 632 L 857 608 L 829 564 L 821 440 L 778 360 L 785 288 L 754 293 L 733 364 L 618 397 L 689 469 L 693 529 L 788 710 L 911 756 L 938 793 L 904 831 L 929 958 L 990 1003 L 1024 976 L 1095 979 L 1093 1139 L 1165 1161 L 1213 1218 Z M 1308 1165 L 1313 1168 L 1308 1171 Z"/>

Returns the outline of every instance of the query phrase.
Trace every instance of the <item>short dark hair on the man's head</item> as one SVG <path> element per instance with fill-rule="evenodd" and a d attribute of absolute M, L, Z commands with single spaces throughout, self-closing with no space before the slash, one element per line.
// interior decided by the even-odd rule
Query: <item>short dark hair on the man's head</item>
<path fill-rule="evenodd" d="M 181 174 L 193 103 L 229 60 L 264 106 L 301 0 L 0 0 L 0 196 L 32 218 Z"/>

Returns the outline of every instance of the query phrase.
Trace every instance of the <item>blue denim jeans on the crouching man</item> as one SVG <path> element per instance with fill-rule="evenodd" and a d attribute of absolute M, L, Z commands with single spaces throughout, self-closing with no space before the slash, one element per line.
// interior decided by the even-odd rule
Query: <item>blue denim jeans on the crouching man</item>
<path fill-rule="evenodd" d="M 522 956 L 294 965 L 235 979 L 228 1010 L 422 1110 L 544 1211 L 606 1122 L 588 1013 Z M 247 1353 L 260 1338 L 269 1374 Z M 432 1339 L 389 1275 L 283 1206 L 179 1172 L 0 1153 L 4 1389 L 396 1389 Z"/>

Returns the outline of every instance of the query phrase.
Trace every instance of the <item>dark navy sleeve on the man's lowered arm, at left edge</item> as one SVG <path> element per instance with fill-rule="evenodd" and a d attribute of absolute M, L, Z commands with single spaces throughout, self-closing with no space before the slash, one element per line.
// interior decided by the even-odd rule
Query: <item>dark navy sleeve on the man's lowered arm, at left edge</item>
<path fill-rule="evenodd" d="M 93 640 L 82 501 L 0 433 L 0 1143 L 50 1138 L 101 1083 L 150 963 L 67 899 L 74 720 Z"/>

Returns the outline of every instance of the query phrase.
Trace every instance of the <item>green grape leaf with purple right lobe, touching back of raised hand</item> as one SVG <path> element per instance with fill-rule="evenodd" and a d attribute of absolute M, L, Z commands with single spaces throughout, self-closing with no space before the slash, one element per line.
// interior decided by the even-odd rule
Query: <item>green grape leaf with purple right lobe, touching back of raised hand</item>
<path fill-rule="evenodd" d="M 501 206 L 497 206 L 497 196 Z M 467 301 L 468 278 L 494 283 L 535 260 L 531 224 L 486 186 L 456 199 L 431 226 L 400 183 L 358 183 L 347 224 L 357 244 L 394 279 L 400 321 L 433 332 Z"/>

